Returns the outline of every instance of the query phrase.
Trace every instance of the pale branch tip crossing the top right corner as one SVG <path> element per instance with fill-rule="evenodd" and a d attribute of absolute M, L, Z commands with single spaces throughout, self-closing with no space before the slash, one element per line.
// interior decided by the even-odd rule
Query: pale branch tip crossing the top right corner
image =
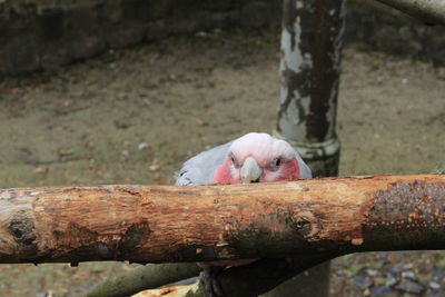
<path fill-rule="evenodd" d="M 428 24 L 445 26 L 445 1 L 443 0 L 378 0 Z"/>

